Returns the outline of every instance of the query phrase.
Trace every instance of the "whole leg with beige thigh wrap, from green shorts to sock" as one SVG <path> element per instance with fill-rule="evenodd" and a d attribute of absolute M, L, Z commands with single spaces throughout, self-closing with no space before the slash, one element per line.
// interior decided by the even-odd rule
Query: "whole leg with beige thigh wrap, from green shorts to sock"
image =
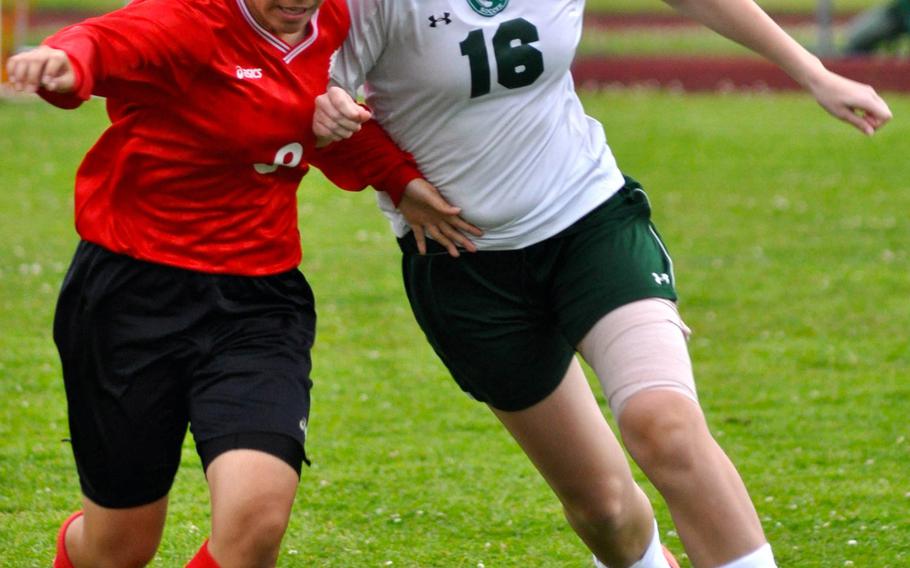
<path fill-rule="evenodd" d="M 617 308 L 579 345 L 632 458 L 660 491 L 692 563 L 716 567 L 765 544 L 746 488 L 695 400 L 688 330 L 673 304 Z"/>

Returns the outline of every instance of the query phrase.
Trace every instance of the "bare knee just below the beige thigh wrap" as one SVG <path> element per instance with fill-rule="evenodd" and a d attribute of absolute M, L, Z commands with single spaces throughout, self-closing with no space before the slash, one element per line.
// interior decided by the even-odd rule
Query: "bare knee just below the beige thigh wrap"
<path fill-rule="evenodd" d="M 669 391 L 633 397 L 619 424 L 629 453 L 652 478 L 692 471 L 709 438 L 699 408 Z"/>

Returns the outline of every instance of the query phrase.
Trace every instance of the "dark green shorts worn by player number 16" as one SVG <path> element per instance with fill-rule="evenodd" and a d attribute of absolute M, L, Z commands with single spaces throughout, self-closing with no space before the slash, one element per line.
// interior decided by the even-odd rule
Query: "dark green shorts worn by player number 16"
<path fill-rule="evenodd" d="M 641 186 L 626 185 L 527 248 L 450 257 L 399 239 L 411 308 L 459 386 L 494 408 L 528 408 L 559 385 L 575 346 L 611 310 L 676 300 L 673 264 Z"/>

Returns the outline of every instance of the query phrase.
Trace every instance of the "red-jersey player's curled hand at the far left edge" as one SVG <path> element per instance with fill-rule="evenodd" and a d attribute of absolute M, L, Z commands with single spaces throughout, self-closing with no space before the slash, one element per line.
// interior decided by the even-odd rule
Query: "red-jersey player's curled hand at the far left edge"
<path fill-rule="evenodd" d="M 6 71 L 17 91 L 34 93 L 43 88 L 52 93 L 70 93 L 76 85 L 73 64 L 66 52 L 46 45 L 10 57 Z"/>

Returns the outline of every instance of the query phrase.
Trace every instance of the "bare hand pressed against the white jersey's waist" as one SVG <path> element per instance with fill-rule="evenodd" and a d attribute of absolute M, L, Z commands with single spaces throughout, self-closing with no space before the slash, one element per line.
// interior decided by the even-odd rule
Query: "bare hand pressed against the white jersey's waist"
<path fill-rule="evenodd" d="M 461 209 L 450 204 L 433 185 L 424 179 L 414 179 L 404 190 L 398 210 L 414 231 L 417 250 L 426 254 L 426 237 L 431 237 L 449 251 L 459 256 L 458 247 L 477 252 L 468 235 L 479 237 L 483 231 L 461 217 Z"/>

